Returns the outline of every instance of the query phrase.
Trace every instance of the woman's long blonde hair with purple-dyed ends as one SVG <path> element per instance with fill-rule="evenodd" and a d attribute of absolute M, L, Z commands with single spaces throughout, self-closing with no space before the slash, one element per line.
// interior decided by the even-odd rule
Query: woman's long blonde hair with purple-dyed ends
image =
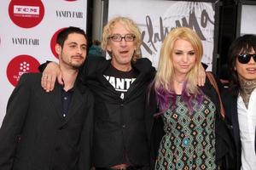
<path fill-rule="evenodd" d="M 183 39 L 191 43 L 195 50 L 195 65 L 189 71 L 186 77 L 185 87 L 183 91 L 187 97 L 195 97 L 199 94 L 197 88 L 197 75 L 198 69 L 201 66 L 201 57 L 203 54 L 203 48 L 200 37 L 188 27 L 177 27 L 169 32 L 166 39 L 164 40 L 160 49 L 160 60 L 158 64 L 158 70 L 156 76 L 154 77 L 154 91 L 159 94 L 159 103 L 163 103 L 163 108 L 166 109 L 166 96 L 169 94 L 174 94 L 173 91 L 173 78 L 174 78 L 174 68 L 172 64 L 172 54 L 174 43 L 178 39 Z M 189 98 L 190 98 L 189 97 Z M 165 101 L 163 101 L 165 100 Z"/>

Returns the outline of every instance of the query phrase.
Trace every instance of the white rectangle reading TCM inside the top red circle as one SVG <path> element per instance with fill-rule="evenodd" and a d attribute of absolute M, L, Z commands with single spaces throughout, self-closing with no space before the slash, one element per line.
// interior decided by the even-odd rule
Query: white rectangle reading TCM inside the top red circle
<path fill-rule="evenodd" d="M 39 15 L 39 9 L 39 7 L 15 5 L 14 14 Z"/>

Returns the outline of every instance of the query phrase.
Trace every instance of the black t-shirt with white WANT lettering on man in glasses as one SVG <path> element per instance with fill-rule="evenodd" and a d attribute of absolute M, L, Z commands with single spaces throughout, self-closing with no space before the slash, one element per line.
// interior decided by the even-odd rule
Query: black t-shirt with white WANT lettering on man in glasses
<path fill-rule="evenodd" d="M 120 99 L 125 98 L 125 93 L 131 87 L 131 83 L 137 78 L 138 71 L 133 68 L 131 71 L 119 71 L 110 65 L 106 71 L 104 71 L 104 77 L 113 86 L 113 88 L 119 92 Z"/>

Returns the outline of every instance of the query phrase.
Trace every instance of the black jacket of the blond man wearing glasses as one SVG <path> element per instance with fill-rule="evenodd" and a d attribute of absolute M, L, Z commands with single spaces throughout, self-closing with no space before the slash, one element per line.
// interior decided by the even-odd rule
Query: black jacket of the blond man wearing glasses
<path fill-rule="evenodd" d="M 149 164 L 147 121 L 144 111 L 146 91 L 154 77 L 154 67 L 146 59 L 132 65 L 139 72 L 135 82 L 120 99 L 113 86 L 103 77 L 111 60 L 88 57 L 84 65 L 84 83 L 93 92 L 95 102 L 95 167 L 111 167 L 128 158 L 131 165 Z"/>

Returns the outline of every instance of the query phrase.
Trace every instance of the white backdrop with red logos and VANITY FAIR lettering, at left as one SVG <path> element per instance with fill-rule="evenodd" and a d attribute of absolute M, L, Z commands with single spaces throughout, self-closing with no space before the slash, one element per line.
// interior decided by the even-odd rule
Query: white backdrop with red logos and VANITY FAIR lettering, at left
<path fill-rule="evenodd" d="M 0 126 L 20 75 L 38 71 L 46 59 L 57 61 L 52 37 L 67 26 L 86 31 L 86 10 L 87 0 L 0 1 Z"/>

